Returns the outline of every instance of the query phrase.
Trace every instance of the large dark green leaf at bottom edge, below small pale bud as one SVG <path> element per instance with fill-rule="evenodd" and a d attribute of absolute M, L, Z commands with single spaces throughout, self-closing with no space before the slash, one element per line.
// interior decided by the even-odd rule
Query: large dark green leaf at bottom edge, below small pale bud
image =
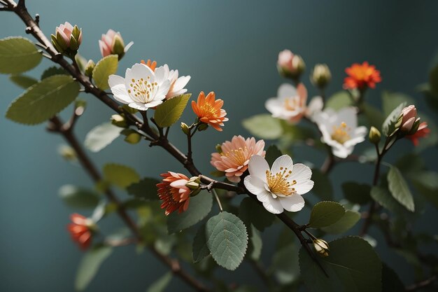
<path fill-rule="evenodd" d="M 318 261 L 328 277 L 304 248 L 299 268 L 311 292 L 381 292 L 382 265 L 376 252 L 360 237 L 344 237 L 329 243 L 329 256 Z"/>

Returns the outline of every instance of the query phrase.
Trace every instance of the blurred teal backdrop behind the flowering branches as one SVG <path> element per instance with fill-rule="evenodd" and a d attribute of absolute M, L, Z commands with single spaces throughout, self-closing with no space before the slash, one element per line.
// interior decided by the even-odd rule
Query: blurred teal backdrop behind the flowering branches
<path fill-rule="evenodd" d="M 333 75 L 330 93 L 341 88 L 344 68 L 367 60 L 376 64 L 383 76 L 383 82 L 367 96 L 374 104 L 378 104 L 381 91 L 389 89 L 412 95 L 424 107 L 423 97 L 415 88 L 427 80 L 438 47 L 437 1 L 34 0 L 27 1 L 27 6 L 32 14 L 41 15 L 41 28 L 47 36 L 64 21 L 82 27 L 80 53 L 95 61 L 100 56 L 97 40 L 107 29 L 120 31 L 126 43 L 134 41 L 120 62 L 120 74 L 139 60 L 152 58 L 192 76 L 188 90 L 194 95 L 200 90 L 214 90 L 224 99 L 229 118 L 224 131 L 209 130 L 195 140 L 195 161 L 204 172 L 211 171 L 209 157 L 217 143 L 234 134 L 247 135 L 241 120 L 266 112 L 264 101 L 275 96 L 278 85 L 284 82 L 276 74 L 280 50 L 289 48 L 302 55 L 308 67 L 306 74 L 316 62 L 327 63 Z M 12 13 L 0 13 L 0 27 L 1 38 L 24 35 L 24 25 Z M 44 60 L 29 75 L 38 77 L 48 66 L 50 62 Z M 304 78 L 304 82 L 311 95 L 315 94 L 309 79 Z M 73 291 L 82 253 L 71 243 L 66 223 L 76 210 L 62 204 L 57 190 L 66 183 L 90 187 L 92 182 L 80 167 L 59 158 L 57 148 L 63 141 L 45 132 L 45 125 L 27 127 L 4 118 L 8 104 L 21 92 L 7 76 L 0 76 L 0 291 Z M 112 114 L 92 96 L 83 97 L 89 106 L 76 127 L 81 141 L 92 127 Z M 70 113 L 71 109 L 64 111 L 64 118 Z M 188 110 L 183 119 L 190 123 L 192 118 Z M 178 130 L 171 131 L 171 139 L 185 147 Z M 394 156 L 407 148 L 411 145 L 404 142 L 395 148 Z M 319 164 L 322 159 L 313 151 L 300 151 L 295 160 Z M 428 165 L 436 170 L 430 159 L 434 154 L 425 152 Z M 92 158 L 98 165 L 131 165 L 142 176 L 157 176 L 170 169 L 183 172 L 161 149 L 127 145 L 122 139 L 92 154 Z M 341 165 L 332 173 L 337 190 L 342 181 L 358 176 L 360 181 L 371 180 L 371 167 L 351 169 L 351 165 Z M 434 210 L 428 209 L 428 214 L 430 220 Z M 297 221 L 305 223 L 306 216 L 301 214 Z M 121 225 L 113 218 L 104 226 L 114 230 Z M 264 244 L 265 263 L 269 263 L 274 239 L 267 236 Z M 411 283 L 412 270 L 404 260 L 385 249 L 381 251 L 402 279 Z M 132 246 L 123 247 L 104 263 L 87 291 L 145 291 L 164 272 L 166 267 L 148 253 L 136 256 Z M 244 283 L 254 281 L 256 275 L 244 263 L 234 273 L 221 270 L 218 277 Z M 174 279 L 168 291 L 190 288 Z"/>

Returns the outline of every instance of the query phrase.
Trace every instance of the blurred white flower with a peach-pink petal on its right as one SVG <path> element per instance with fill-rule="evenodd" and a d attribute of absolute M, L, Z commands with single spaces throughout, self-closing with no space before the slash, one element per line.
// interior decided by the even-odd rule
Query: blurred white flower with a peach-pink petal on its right
<path fill-rule="evenodd" d="M 272 97 L 264 106 L 274 118 L 289 120 L 298 123 L 306 112 L 307 90 L 302 83 L 297 88 L 288 83 L 280 85 L 278 97 Z"/>

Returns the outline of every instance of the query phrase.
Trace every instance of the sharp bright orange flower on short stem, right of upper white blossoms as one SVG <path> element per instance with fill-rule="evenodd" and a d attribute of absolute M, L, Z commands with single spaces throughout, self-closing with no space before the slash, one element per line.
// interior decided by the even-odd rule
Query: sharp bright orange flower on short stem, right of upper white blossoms
<path fill-rule="evenodd" d="M 222 109 L 224 102 L 222 99 L 215 100 L 214 92 L 210 92 L 205 96 L 202 91 L 199 93 L 198 102 L 192 101 L 192 109 L 202 123 L 206 123 L 214 127 L 218 131 L 222 131 L 220 126 L 228 120 L 225 118 L 227 112 Z"/>

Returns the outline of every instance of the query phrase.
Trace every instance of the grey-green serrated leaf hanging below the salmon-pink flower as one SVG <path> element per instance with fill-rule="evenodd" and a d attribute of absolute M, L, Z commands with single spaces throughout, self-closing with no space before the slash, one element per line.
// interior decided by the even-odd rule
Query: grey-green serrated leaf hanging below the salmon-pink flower
<path fill-rule="evenodd" d="M 213 216 L 206 223 L 207 246 L 218 265 L 236 270 L 248 247 L 248 233 L 239 217 L 226 211 Z"/>

